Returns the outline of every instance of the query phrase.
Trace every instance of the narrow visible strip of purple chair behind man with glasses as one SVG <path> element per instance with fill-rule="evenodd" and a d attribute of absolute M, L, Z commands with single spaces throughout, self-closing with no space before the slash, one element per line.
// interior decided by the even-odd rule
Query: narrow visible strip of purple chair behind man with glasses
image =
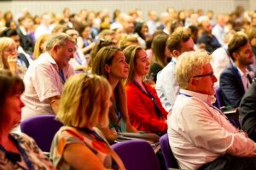
<path fill-rule="evenodd" d="M 164 134 L 160 137 L 160 147 L 162 150 L 162 154 L 166 161 L 166 168 L 178 168 L 177 160 L 172 154 L 171 147 L 169 145 L 168 134 Z"/>

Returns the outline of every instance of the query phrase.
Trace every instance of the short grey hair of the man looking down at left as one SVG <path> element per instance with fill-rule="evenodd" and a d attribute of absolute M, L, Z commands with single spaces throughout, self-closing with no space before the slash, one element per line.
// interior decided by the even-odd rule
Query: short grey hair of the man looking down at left
<path fill-rule="evenodd" d="M 60 33 L 60 34 L 55 34 L 51 37 L 46 42 L 46 50 L 50 51 L 52 48 L 54 48 L 56 45 L 63 46 L 66 44 L 66 42 L 73 42 L 74 44 L 76 43 L 73 41 L 73 38 L 68 36 L 65 33 Z"/>

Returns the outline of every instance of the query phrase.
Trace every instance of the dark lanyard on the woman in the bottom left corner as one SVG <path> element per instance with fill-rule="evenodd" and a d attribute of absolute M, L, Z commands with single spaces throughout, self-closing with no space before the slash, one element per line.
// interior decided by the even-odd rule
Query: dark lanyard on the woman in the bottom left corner
<path fill-rule="evenodd" d="M 34 170 L 34 167 L 32 166 L 32 162 L 29 160 L 28 156 L 26 155 L 26 151 L 23 150 L 23 148 L 20 146 L 19 141 L 17 141 L 14 137 L 10 136 L 10 138 L 14 141 L 15 146 L 20 151 L 20 155 L 23 157 L 24 161 L 26 162 L 26 166 L 28 170 Z M 20 156 L 17 156 L 16 154 L 13 154 L 9 152 L 8 150 L 5 150 L 2 144 L 0 144 L 0 150 L 2 150 L 6 157 L 9 159 L 9 161 L 14 162 L 18 167 L 20 167 L 23 170 L 27 170 L 25 167 L 22 167 L 20 163 L 17 161 L 20 161 Z"/>

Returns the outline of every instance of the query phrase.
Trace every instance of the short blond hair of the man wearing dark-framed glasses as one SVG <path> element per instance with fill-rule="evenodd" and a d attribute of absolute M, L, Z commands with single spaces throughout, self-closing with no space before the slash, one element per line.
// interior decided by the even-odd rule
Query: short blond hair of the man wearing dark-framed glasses
<path fill-rule="evenodd" d="M 180 88 L 188 88 L 189 79 L 199 75 L 203 66 L 210 63 L 212 57 L 207 51 L 190 51 L 177 58 L 176 76 Z"/>

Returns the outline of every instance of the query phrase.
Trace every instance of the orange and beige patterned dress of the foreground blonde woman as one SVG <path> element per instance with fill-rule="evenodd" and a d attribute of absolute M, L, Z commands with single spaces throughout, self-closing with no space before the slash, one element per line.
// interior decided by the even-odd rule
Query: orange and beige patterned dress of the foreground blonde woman
<path fill-rule="evenodd" d="M 50 159 L 57 169 L 71 170 L 73 167 L 71 167 L 62 157 L 64 149 L 67 144 L 84 144 L 95 153 L 100 161 L 102 161 L 104 167 L 118 169 L 116 162 L 112 159 L 112 156 L 110 156 L 111 149 L 106 139 L 102 139 L 102 135 L 100 135 L 99 132 L 96 133 L 95 130 L 86 133 L 74 127 L 61 127 L 53 139 L 50 150 Z"/>

